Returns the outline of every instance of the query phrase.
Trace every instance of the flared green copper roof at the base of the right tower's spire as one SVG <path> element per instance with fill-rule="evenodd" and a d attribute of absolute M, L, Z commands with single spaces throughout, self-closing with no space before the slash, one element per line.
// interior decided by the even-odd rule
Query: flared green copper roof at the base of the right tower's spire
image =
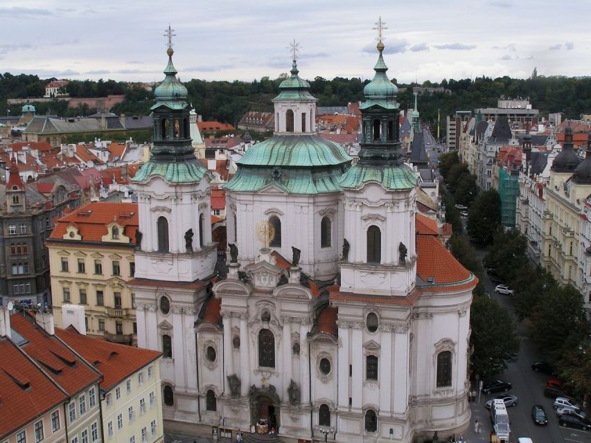
<path fill-rule="evenodd" d="M 342 188 L 360 188 L 363 183 L 377 181 L 387 190 L 405 190 L 416 187 L 418 175 L 408 165 L 360 165 L 353 166 L 343 175 Z"/>

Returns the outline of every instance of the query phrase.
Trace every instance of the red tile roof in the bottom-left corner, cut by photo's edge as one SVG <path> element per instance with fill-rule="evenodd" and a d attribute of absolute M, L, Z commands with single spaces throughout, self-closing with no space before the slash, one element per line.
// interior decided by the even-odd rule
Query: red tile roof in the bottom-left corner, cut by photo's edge
<path fill-rule="evenodd" d="M 67 397 L 6 338 L 0 339 L 0 355 L 0 437 L 4 438 Z"/>

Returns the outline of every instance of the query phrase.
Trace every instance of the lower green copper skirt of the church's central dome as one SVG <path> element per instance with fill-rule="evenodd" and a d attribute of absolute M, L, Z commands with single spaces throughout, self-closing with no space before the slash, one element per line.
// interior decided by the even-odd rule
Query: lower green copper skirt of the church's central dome
<path fill-rule="evenodd" d="M 340 192 L 339 179 L 342 168 L 238 168 L 236 175 L 224 185 L 234 192 L 258 192 L 267 186 L 275 186 L 288 194 L 315 195 Z"/>

